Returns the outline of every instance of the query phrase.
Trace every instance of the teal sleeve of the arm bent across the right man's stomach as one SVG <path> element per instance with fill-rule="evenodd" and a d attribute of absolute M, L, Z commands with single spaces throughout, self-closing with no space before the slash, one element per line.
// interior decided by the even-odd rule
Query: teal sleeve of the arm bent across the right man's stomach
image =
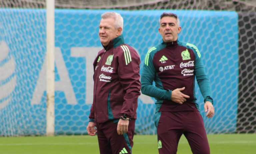
<path fill-rule="evenodd" d="M 156 99 L 170 100 L 172 91 L 163 89 L 162 82 L 153 66 L 153 57 L 156 52 L 157 49 L 153 47 L 146 54 L 141 74 L 141 92 Z M 153 85 L 154 80 L 156 82 L 156 86 Z"/>

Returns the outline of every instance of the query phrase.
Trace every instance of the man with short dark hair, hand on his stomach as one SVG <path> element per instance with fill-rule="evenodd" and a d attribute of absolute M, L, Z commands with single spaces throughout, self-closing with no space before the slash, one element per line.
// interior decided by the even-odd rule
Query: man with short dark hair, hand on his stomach
<path fill-rule="evenodd" d="M 182 134 L 194 154 L 209 154 L 208 139 L 196 102 L 195 77 L 208 118 L 214 115 L 210 83 L 199 50 L 195 45 L 180 42 L 180 31 L 176 14 L 161 15 L 159 33 L 163 42 L 146 54 L 141 92 L 157 100 L 155 125 L 159 154 L 176 154 Z"/>

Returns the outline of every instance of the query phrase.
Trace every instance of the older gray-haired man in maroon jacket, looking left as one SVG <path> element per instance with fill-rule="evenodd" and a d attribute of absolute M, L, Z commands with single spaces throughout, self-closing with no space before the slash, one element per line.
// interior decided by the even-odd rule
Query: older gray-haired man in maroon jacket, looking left
<path fill-rule="evenodd" d="M 94 60 L 93 104 L 87 132 L 97 133 L 101 154 L 131 154 L 138 97 L 140 58 L 124 43 L 119 13 L 101 15 L 99 38 L 103 49 Z"/>

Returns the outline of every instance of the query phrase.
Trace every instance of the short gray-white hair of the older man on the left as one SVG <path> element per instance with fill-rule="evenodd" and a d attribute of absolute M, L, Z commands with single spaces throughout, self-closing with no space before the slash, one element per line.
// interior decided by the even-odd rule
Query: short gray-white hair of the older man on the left
<path fill-rule="evenodd" d="M 119 13 L 116 13 L 116 12 L 105 12 L 101 15 L 101 18 L 102 19 L 108 19 L 108 18 L 113 18 L 115 21 L 114 21 L 114 27 L 116 29 L 118 29 L 119 27 L 122 28 L 122 32 L 123 32 L 123 27 L 124 27 L 124 19 L 123 17 L 119 14 Z M 121 32 L 121 33 L 122 33 Z"/>

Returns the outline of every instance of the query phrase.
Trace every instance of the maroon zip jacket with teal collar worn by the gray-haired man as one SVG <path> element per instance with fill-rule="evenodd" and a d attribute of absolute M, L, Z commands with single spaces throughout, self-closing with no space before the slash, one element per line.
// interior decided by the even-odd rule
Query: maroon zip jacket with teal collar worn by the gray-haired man
<path fill-rule="evenodd" d="M 110 41 L 94 60 L 93 104 L 90 121 L 103 123 L 121 114 L 136 119 L 140 95 L 140 58 L 124 43 L 123 35 Z"/>

